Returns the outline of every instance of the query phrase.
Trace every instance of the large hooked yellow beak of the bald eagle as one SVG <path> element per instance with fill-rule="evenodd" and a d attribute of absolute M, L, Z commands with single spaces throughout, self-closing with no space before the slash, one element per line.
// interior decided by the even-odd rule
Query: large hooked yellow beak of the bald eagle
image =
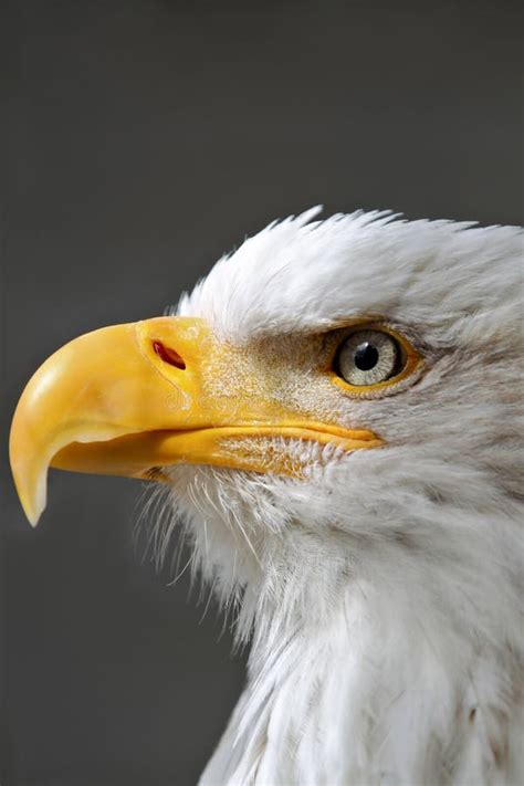
<path fill-rule="evenodd" d="M 35 525 L 45 507 L 49 465 L 156 480 L 176 463 L 300 474 L 289 457 L 252 451 L 252 440 L 308 439 L 346 451 L 381 444 L 370 431 L 300 419 L 268 396 L 220 395 L 209 384 L 218 352 L 203 321 L 158 317 L 94 331 L 54 353 L 29 381 L 11 427 L 29 521 Z"/>

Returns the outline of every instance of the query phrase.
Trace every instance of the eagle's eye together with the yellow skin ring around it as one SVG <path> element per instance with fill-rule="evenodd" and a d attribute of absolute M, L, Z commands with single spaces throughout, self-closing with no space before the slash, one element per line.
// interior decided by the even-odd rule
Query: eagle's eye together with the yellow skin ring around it
<path fill-rule="evenodd" d="M 338 344 L 329 376 L 356 397 L 374 396 L 397 389 L 421 361 L 419 353 L 397 331 L 384 324 L 360 324 Z"/>

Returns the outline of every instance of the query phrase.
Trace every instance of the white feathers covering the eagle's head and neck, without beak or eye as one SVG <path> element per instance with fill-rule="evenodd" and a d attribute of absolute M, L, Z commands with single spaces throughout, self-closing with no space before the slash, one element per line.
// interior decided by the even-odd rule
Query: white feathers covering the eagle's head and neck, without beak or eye
<path fill-rule="evenodd" d="M 297 442 L 322 459 L 303 481 L 169 469 L 166 532 L 182 514 L 252 640 L 201 784 L 524 783 L 522 235 L 316 212 L 247 240 L 178 310 L 281 352 L 302 411 L 386 440 L 344 455 Z M 290 340 L 363 316 L 425 367 L 395 395 L 334 404 Z"/>

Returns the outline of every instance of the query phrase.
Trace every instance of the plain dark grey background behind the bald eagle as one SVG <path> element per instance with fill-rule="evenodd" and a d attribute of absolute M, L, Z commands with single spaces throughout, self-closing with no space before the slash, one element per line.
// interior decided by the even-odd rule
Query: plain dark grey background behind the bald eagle
<path fill-rule="evenodd" d="M 51 352 L 277 216 L 520 223 L 516 9 L 2 2 L 3 444 Z M 195 783 L 243 661 L 135 548 L 139 485 L 53 472 L 34 532 L 2 489 L 2 786 Z"/>

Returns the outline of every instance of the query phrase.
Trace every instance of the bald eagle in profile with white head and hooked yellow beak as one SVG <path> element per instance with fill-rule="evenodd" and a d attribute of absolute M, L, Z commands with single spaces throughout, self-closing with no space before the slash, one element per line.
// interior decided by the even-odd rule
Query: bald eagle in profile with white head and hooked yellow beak
<path fill-rule="evenodd" d="M 52 355 L 21 503 L 49 465 L 166 490 L 251 642 L 203 786 L 522 784 L 522 233 L 317 212 Z"/>

